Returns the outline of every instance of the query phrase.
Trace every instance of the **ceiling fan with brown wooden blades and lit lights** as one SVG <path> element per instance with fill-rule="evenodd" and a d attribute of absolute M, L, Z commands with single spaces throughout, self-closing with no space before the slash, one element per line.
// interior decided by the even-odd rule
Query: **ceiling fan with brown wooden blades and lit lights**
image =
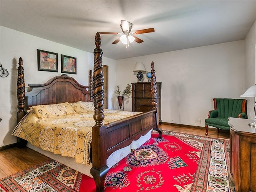
<path fill-rule="evenodd" d="M 154 28 L 148 28 L 148 29 L 141 29 L 141 30 L 136 30 L 136 31 L 132 31 L 132 23 L 128 22 L 128 21 L 124 21 L 121 20 L 121 24 L 120 24 L 122 33 L 116 33 L 116 32 L 100 32 L 100 34 L 110 34 L 110 35 L 122 35 L 120 38 L 114 40 L 114 42 L 112 42 L 112 44 L 116 44 L 119 41 L 121 41 L 123 44 L 126 44 L 126 48 L 127 46 L 129 46 L 129 42 L 137 42 L 137 43 L 142 43 L 143 40 L 134 36 L 135 34 L 142 34 L 142 33 L 151 33 L 154 32 Z"/>

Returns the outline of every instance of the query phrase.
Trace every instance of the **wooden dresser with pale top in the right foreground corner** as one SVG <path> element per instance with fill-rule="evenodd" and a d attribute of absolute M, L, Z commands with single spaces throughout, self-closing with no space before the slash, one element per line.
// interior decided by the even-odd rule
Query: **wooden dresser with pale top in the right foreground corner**
<path fill-rule="evenodd" d="M 253 120 L 228 118 L 230 125 L 230 179 L 233 192 L 256 192 L 256 128 Z"/>

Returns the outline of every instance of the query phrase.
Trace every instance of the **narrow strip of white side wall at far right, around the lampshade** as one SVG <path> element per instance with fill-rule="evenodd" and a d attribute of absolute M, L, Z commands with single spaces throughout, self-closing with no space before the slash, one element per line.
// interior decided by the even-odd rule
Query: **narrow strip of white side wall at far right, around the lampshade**
<path fill-rule="evenodd" d="M 250 32 L 247 34 L 245 38 L 245 90 L 246 91 L 250 86 L 256 84 L 255 80 L 255 51 L 256 51 L 256 21 L 254 25 L 250 29 Z M 249 119 L 255 119 L 254 113 L 254 98 L 247 97 L 248 105 L 247 105 L 247 113 Z"/>

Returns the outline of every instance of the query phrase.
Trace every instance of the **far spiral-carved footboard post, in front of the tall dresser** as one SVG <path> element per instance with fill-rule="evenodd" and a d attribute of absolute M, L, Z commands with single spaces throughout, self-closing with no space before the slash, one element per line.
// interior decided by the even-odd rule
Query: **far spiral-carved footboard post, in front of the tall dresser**
<path fill-rule="evenodd" d="M 157 109 L 157 86 L 156 86 L 156 71 L 154 69 L 154 62 L 151 62 L 151 95 L 153 109 Z M 154 130 L 158 131 L 158 138 L 162 138 L 162 129 L 159 128 L 159 118 L 156 112 L 156 127 Z"/>

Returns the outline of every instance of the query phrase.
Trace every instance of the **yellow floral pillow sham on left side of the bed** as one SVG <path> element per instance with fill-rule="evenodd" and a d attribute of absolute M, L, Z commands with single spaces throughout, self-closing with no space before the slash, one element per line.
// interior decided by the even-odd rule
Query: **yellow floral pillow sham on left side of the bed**
<path fill-rule="evenodd" d="M 39 119 L 76 114 L 76 111 L 68 102 L 49 105 L 36 105 L 30 107 L 30 109 L 34 110 Z"/>

